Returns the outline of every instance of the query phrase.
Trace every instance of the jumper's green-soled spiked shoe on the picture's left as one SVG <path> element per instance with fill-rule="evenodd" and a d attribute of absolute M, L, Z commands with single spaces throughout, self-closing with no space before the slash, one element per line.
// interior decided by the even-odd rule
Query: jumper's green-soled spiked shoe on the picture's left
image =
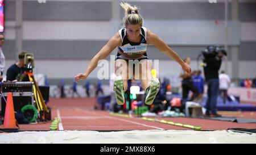
<path fill-rule="evenodd" d="M 125 104 L 125 95 L 123 92 L 123 79 L 122 77 L 117 77 L 114 81 L 114 92 L 115 99 L 117 100 L 118 105 Z"/>

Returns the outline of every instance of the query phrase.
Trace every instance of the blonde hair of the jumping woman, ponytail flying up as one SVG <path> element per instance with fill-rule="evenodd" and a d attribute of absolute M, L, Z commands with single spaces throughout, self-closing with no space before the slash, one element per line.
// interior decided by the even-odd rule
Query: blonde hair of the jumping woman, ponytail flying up
<path fill-rule="evenodd" d="M 125 10 L 125 17 L 123 18 L 123 24 L 125 27 L 127 24 L 140 24 L 143 25 L 143 18 L 139 14 L 138 8 L 136 6 L 131 6 L 129 3 L 120 3 L 123 10 Z"/>

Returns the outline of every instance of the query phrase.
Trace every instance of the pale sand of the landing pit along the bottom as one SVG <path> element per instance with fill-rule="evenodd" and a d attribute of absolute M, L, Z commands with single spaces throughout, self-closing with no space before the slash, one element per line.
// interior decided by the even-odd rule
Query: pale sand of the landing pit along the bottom
<path fill-rule="evenodd" d="M 256 134 L 232 131 L 46 131 L 0 133 L 0 143 L 256 143 Z"/>

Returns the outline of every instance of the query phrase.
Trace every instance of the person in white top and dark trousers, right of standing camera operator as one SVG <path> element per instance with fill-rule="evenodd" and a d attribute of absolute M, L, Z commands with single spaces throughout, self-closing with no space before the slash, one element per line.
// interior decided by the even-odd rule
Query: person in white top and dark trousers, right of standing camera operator
<path fill-rule="evenodd" d="M 224 70 L 221 71 L 221 74 L 218 76 L 220 80 L 220 94 L 223 98 L 223 103 L 226 103 L 226 99 L 228 98 L 228 89 L 230 86 L 230 78 L 228 74 L 225 74 Z"/>

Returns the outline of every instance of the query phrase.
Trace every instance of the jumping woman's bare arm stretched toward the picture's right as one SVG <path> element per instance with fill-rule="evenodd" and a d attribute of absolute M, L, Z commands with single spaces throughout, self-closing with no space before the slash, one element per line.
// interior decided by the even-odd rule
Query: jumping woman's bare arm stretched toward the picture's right
<path fill-rule="evenodd" d="M 156 48 L 159 49 L 159 51 L 166 54 L 168 57 L 174 59 L 176 62 L 178 62 L 182 69 L 185 72 L 191 73 L 190 66 L 185 63 L 177 53 L 172 50 L 166 43 L 164 43 L 163 40 L 161 40 L 158 36 L 156 36 L 154 33 L 152 33 L 150 30 L 147 30 L 147 43 L 155 45 Z"/>

